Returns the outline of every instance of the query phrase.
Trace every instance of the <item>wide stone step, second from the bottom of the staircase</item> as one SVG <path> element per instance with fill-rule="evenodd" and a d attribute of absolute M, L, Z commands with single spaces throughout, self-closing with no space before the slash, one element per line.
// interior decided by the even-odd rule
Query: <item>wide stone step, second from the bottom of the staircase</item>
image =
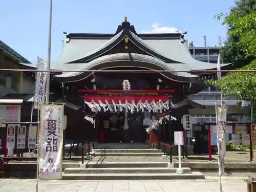
<path fill-rule="evenodd" d="M 161 174 L 176 173 L 177 168 L 164 167 L 119 167 L 119 168 L 66 168 L 65 174 Z M 183 168 L 184 174 L 191 174 L 191 169 Z"/>

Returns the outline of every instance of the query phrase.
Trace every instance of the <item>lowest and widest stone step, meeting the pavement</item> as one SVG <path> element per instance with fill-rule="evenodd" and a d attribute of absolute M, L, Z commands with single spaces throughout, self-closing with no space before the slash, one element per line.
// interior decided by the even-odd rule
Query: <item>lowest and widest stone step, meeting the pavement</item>
<path fill-rule="evenodd" d="M 191 174 L 176 174 L 176 173 L 132 173 L 132 174 L 62 174 L 64 180 L 155 180 L 155 179 L 205 179 L 205 176 L 200 172 Z"/>

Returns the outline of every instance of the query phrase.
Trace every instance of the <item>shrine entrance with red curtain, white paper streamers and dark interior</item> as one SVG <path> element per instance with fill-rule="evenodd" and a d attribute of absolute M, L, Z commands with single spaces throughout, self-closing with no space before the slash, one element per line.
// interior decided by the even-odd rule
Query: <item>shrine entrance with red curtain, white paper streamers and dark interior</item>
<path fill-rule="evenodd" d="M 96 91 L 100 92 L 99 90 Z M 91 118 L 91 122 L 95 124 L 95 141 L 101 143 L 145 143 L 148 135 L 146 129 L 152 124 L 151 116 L 167 112 L 169 109 L 168 99 L 172 97 L 169 95 L 152 95 L 153 91 L 161 93 L 161 90 L 104 91 L 112 92 L 112 94 L 86 94 L 82 96 L 85 111 L 91 111 L 94 116 Z M 171 91 L 164 90 L 165 93 Z M 84 92 L 92 93 L 94 91 L 84 90 Z M 120 95 L 113 95 L 115 92 Z M 144 93 L 144 95 L 138 95 L 139 92 Z M 126 95 L 121 95 L 122 93 Z M 90 120 L 89 116 L 85 118 Z"/>

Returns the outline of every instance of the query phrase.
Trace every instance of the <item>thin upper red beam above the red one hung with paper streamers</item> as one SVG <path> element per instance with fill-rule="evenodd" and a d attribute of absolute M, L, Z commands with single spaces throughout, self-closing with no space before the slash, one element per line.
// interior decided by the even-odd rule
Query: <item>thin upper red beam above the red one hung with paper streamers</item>
<path fill-rule="evenodd" d="M 102 92 L 112 92 L 112 93 L 165 93 L 165 92 L 175 92 L 172 89 L 161 89 L 161 90 L 90 90 L 90 89 L 80 89 L 78 92 L 87 92 L 87 93 L 102 93 Z"/>

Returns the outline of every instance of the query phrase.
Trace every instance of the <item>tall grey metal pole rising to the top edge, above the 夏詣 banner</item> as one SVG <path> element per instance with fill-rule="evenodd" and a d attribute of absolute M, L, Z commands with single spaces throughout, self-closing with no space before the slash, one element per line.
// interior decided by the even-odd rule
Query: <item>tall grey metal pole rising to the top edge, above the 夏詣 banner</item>
<path fill-rule="evenodd" d="M 51 69 L 51 39 L 52 39 L 52 0 L 50 0 L 50 18 L 49 18 L 49 35 L 48 35 L 48 60 L 47 60 L 47 70 Z M 49 104 L 50 96 L 50 72 L 47 74 L 46 80 L 46 104 Z"/>

